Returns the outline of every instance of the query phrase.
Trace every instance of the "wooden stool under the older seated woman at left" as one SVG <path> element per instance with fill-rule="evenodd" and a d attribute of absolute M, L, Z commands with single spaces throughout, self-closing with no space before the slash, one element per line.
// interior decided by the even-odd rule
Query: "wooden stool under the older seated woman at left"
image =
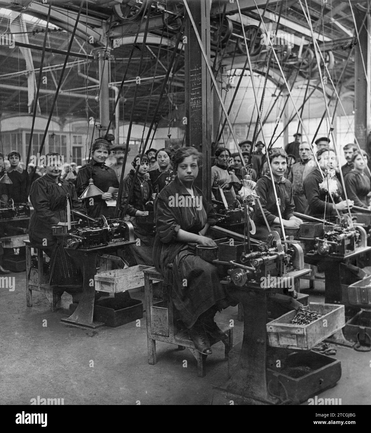
<path fill-rule="evenodd" d="M 45 293 L 50 303 L 50 309 L 54 313 L 57 310 L 57 301 L 64 290 L 58 286 L 48 284 L 47 278 L 44 275 L 43 269 L 43 251 L 42 248 L 37 249 L 37 269 L 32 268 L 31 263 L 31 242 L 24 241 L 26 244 L 26 299 L 27 307 L 32 307 L 32 291 Z"/>

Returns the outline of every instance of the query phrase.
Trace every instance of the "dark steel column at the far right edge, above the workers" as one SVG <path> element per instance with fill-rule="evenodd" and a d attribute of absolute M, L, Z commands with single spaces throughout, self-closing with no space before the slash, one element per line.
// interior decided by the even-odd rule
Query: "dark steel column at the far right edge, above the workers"
<path fill-rule="evenodd" d="M 370 17 L 365 18 L 365 13 L 356 7 L 353 9 L 359 34 L 359 44 L 355 47 L 355 136 L 362 149 L 367 149 L 367 136 L 370 131 L 370 88 L 371 88 L 371 63 L 370 63 Z M 361 26 L 365 18 L 365 25 Z M 362 63 L 365 63 L 365 69 Z"/>

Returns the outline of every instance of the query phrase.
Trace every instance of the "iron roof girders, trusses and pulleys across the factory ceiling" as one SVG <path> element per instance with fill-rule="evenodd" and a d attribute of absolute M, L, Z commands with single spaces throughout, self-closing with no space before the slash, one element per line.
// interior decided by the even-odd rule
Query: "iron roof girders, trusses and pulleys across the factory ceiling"
<path fill-rule="evenodd" d="M 16 115 L 18 113 L 31 112 L 28 95 L 29 70 L 26 61 L 20 52 L 22 47 L 30 48 L 35 74 L 39 73 L 42 45 L 44 40 L 45 22 L 48 13 L 47 3 L 31 0 L 15 0 L 13 2 L 0 0 L 0 7 L 27 14 L 34 17 L 26 20 L 28 43 L 15 35 L 16 46 L 11 49 L 8 46 L 0 46 L 0 104 L 2 113 Z M 255 0 L 261 12 L 266 0 Z M 46 82 L 40 89 L 39 104 L 41 114 L 48 115 L 48 107 L 51 105 L 70 34 L 75 23 L 80 0 L 54 0 L 50 23 L 55 26 L 49 30 L 44 72 Z M 86 3 L 86 4 L 85 4 Z M 98 116 L 99 103 L 99 73 L 96 51 L 98 48 L 109 46 L 112 48 L 110 77 L 112 86 L 119 86 L 123 72 L 126 69 L 132 42 L 141 23 L 141 31 L 145 27 L 145 19 L 141 17 L 146 11 L 146 1 L 135 0 L 87 0 L 84 2 L 80 22 L 77 26 L 71 53 L 69 55 L 68 69 L 65 72 L 61 91 L 58 95 L 54 114 L 61 119 L 68 116 L 87 117 Z M 367 3 L 367 2 L 357 2 Z M 253 0 L 239 0 L 241 6 L 246 37 L 250 43 L 250 54 L 254 71 L 265 74 L 268 50 L 261 45 L 261 31 L 258 29 L 259 15 Z M 326 53 L 326 62 L 332 72 L 334 81 L 339 76 L 348 57 L 349 48 L 356 43 L 354 36 L 354 23 L 352 12 L 348 2 L 329 0 L 310 0 L 308 2 L 310 17 L 313 27 L 316 27 L 318 40 L 322 42 L 321 49 Z M 265 12 L 265 23 L 277 20 L 281 3 L 269 1 Z M 356 4 L 353 3 L 353 7 Z M 362 7 L 359 6 L 358 7 Z M 225 9 L 224 9 L 225 8 Z M 140 73 L 141 85 L 136 97 L 134 121 L 143 123 L 145 118 L 151 116 L 157 103 L 159 89 L 165 76 L 168 62 L 171 58 L 172 46 L 180 28 L 184 16 L 181 2 L 164 0 L 152 3 L 149 19 L 148 36 L 145 53 L 143 55 L 142 72 Z M 222 17 L 224 19 L 222 20 Z M 16 21 L 15 21 L 16 22 Z M 271 27 L 274 28 L 274 27 Z M 6 34 L 10 29 L 10 15 L 0 16 L 0 33 Z M 300 5 L 292 0 L 285 0 L 280 20 L 281 32 L 294 36 L 294 46 L 277 46 L 277 53 L 289 78 L 297 70 L 302 62 L 297 80 L 308 78 L 313 83 L 318 78 L 316 60 L 311 41 L 310 29 L 303 16 Z M 242 36 L 242 24 L 239 22 L 236 2 L 228 0 L 215 0 L 212 3 L 210 14 L 212 61 L 215 71 L 241 67 L 245 61 L 245 45 Z M 125 116 L 127 120 L 132 109 L 132 100 L 136 77 L 138 76 L 139 58 L 143 33 L 139 33 L 136 49 L 129 65 L 126 76 L 126 84 L 123 88 L 120 104 L 120 119 Z M 255 44 L 251 46 L 251 40 L 255 36 Z M 108 40 L 107 40 L 108 37 Z M 23 42 L 19 42 L 19 41 Z M 311 44 L 306 50 L 306 45 Z M 216 58 L 215 58 L 216 56 Z M 215 61 L 214 61 L 215 60 Z M 223 66 L 223 68 L 220 68 Z M 218 74 L 217 74 L 218 76 Z M 277 86 L 282 85 L 279 78 L 279 70 L 272 63 L 269 76 Z M 342 93 L 354 92 L 354 62 L 348 62 L 342 78 Z M 152 92 L 152 97 L 149 95 Z M 330 89 L 329 89 L 330 93 Z M 111 106 L 114 104 L 114 89 L 111 92 Z M 179 51 L 173 75 L 166 89 L 166 100 L 162 104 L 160 115 L 164 119 L 169 118 L 169 110 L 184 103 L 184 55 Z M 149 113 L 149 114 L 148 114 Z"/>

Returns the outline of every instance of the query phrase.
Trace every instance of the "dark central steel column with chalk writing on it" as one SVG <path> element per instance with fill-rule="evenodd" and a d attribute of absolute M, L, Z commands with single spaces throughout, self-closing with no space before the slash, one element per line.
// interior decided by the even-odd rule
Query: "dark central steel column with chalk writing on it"
<path fill-rule="evenodd" d="M 187 1 L 197 25 L 206 55 L 210 58 L 210 5 L 211 0 Z M 186 19 L 185 48 L 185 107 L 186 145 L 202 153 L 203 168 L 196 185 L 211 200 L 211 78 L 201 53 L 200 45 L 190 22 Z"/>

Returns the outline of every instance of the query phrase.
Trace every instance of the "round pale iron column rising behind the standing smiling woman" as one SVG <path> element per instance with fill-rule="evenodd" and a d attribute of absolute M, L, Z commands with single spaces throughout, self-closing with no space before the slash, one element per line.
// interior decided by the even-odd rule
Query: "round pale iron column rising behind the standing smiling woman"
<path fill-rule="evenodd" d="M 99 65 L 99 119 L 100 135 L 103 136 L 110 123 L 110 48 L 97 50 Z"/>

